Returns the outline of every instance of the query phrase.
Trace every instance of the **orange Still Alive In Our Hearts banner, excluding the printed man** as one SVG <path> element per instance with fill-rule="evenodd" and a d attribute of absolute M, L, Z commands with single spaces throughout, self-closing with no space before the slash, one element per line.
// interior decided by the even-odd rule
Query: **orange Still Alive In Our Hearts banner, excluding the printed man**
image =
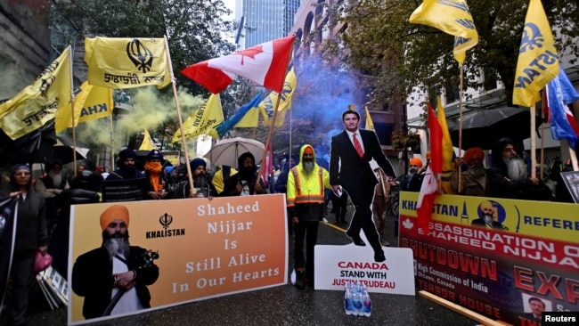
<path fill-rule="evenodd" d="M 281 194 L 74 206 L 69 280 L 77 257 L 101 247 L 100 216 L 114 204 L 128 208 L 131 246 L 159 252 L 154 261 L 159 279 L 148 287 L 151 309 L 287 283 L 287 220 Z M 84 298 L 70 286 L 69 292 L 69 323 L 84 322 Z"/>

